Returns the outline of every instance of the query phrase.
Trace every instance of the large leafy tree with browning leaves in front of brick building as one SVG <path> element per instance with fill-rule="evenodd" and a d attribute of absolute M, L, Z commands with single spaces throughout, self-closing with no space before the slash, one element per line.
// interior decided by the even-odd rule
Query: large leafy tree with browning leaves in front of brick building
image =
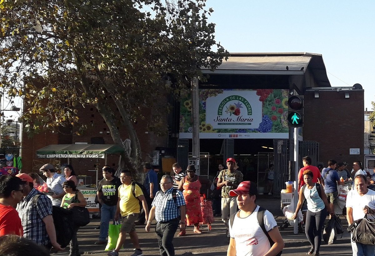
<path fill-rule="evenodd" d="M 133 170 L 141 163 L 133 122 L 152 109 L 148 128 L 165 133 L 170 106 L 160 99 L 228 56 L 205 0 L 0 0 L 0 12 L 0 83 L 27 101 L 26 131 L 78 125 L 78 106 L 93 106 L 114 143 L 126 127 Z"/>

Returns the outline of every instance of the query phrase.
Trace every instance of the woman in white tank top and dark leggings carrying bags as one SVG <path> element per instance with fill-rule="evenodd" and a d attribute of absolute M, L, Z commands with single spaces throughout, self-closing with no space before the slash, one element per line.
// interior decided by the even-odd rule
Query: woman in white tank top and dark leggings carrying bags
<path fill-rule="evenodd" d="M 312 182 L 312 171 L 305 170 L 302 175 L 306 186 L 304 185 L 300 190 L 299 200 L 293 219 L 297 218 L 297 213 L 302 208 L 302 204 L 306 199 L 308 211 L 306 214 L 305 233 L 311 244 L 311 248 L 307 254 L 310 255 L 314 253 L 314 256 L 319 256 L 319 248 L 322 241 L 321 232 L 324 220 L 327 216 L 327 211 L 329 211 L 331 215 L 335 214 L 335 212 L 329 207 L 323 186 Z M 320 190 L 320 192 L 318 190 Z"/>

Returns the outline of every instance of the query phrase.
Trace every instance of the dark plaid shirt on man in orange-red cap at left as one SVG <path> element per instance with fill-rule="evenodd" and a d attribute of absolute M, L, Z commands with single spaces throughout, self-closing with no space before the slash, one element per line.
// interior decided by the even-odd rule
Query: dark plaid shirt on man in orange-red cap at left
<path fill-rule="evenodd" d="M 36 206 L 33 206 L 33 198 L 39 192 L 33 188 L 31 192 L 17 205 L 24 229 L 24 237 L 34 240 L 37 244 L 47 245 L 49 237 L 43 218 L 52 215 L 52 202 L 46 195 L 39 196 Z"/>

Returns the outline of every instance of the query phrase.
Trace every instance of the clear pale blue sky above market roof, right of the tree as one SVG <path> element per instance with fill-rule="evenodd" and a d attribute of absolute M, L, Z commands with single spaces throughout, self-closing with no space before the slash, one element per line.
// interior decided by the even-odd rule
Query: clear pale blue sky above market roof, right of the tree
<path fill-rule="evenodd" d="M 375 1 L 208 0 L 207 7 L 229 52 L 322 54 L 331 85 L 362 84 L 371 110 Z"/>

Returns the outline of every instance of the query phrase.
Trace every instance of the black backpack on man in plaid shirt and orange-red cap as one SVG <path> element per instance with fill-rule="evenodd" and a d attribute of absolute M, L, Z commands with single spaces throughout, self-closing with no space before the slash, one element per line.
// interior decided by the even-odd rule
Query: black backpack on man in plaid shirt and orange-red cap
<path fill-rule="evenodd" d="M 33 197 L 33 207 L 36 207 L 36 202 L 42 194 L 36 194 Z M 73 237 L 73 226 L 71 213 L 60 206 L 52 206 L 53 224 L 56 230 L 56 241 L 60 246 L 66 247 Z"/>

